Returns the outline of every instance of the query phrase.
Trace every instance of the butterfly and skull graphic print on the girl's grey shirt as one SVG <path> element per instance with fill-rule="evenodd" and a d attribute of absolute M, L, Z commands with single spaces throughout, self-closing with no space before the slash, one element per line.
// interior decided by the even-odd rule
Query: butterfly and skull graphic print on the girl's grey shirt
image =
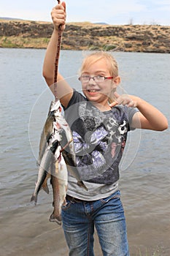
<path fill-rule="evenodd" d="M 115 182 L 128 132 L 125 113 L 115 109 L 106 115 L 90 102 L 81 102 L 72 131 L 82 180 L 98 184 Z"/>

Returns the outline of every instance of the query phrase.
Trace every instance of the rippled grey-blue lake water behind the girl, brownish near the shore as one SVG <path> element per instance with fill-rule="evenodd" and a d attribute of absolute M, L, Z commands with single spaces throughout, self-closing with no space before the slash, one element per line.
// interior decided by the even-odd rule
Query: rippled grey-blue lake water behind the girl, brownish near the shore
<path fill-rule="evenodd" d="M 113 53 L 121 87 L 170 116 L 170 55 Z M 62 228 L 50 223 L 53 195 L 30 203 L 42 125 L 53 95 L 42 78 L 45 50 L 0 49 L 0 255 L 67 255 Z M 61 51 L 60 72 L 77 89 L 83 51 Z M 120 88 L 120 93 L 123 91 Z M 129 133 L 120 189 L 131 255 L 170 255 L 170 132 Z M 101 255 L 98 241 L 96 256 Z M 148 254 L 147 254 L 148 252 Z"/>

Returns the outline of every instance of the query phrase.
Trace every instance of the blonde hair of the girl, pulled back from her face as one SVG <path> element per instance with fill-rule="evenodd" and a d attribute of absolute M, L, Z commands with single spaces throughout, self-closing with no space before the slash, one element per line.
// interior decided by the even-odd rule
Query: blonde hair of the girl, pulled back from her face
<path fill-rule="evenodd" d="M 110 53 L 107 53 L 105 51 L 97 51 L 97 52 L 94 52 L 94 53 L 90 53 L 88 56 L 85 56 L 85 59 L 82 61 L 82 67 L 80 69 L 80 75 L 91 64 L 94 64 L 97 61 L 100 61 L 101 59 L 106 60 L 110 75 L 113 77 L 113 79 L 116 78 L 118 76 L 117 61 L 115 60 L 115 58 Z M 116 91 L 116 89 L 113 89 L 110 92 L 109 99 L 108 99 L 109 103 L 112 103 L 113 101 L 115 101 L 115 97 L 114 97 L 114 92 L 115 91 Z"/>

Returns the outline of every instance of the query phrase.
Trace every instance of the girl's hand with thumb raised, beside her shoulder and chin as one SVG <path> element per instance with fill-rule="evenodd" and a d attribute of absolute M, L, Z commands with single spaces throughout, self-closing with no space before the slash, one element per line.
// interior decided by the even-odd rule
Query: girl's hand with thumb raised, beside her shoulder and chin
<path fill-rule="evenodd" d="M 127 107 L 130 107 L 130 108 L 136 108 L 137 106 L 137 102 L 136 102 L 137 97 L 129 96 L 128 94 L 119 95 L 117 94 L 116 91 L 114 93 L 114 96 L 115 96 L 115 101 L 109 105 L 111 108 L 115 107 L 115 105 L 126 105 Z"/>

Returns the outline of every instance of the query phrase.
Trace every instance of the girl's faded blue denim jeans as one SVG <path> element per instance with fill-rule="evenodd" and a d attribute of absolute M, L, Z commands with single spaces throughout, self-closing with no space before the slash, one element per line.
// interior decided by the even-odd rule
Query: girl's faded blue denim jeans
<path fill-rule="evenodd" d="M 69 256 L 94 256 L 94 227 L 104 256 L 129 256 L 120 191 L 96 201 L 67 200 L 62 220 Z"/>

